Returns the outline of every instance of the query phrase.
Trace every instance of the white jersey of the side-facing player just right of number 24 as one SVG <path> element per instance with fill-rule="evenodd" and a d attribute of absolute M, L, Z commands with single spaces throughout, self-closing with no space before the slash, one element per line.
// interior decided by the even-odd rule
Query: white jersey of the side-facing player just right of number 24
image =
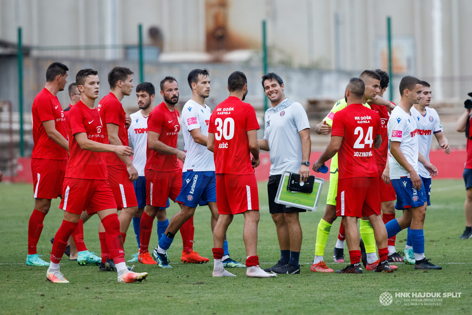
<path fill-rule="evenodd" d="M 415 117 L 405 112 L 400 106 L 396 106 L 388 119 L 387 130 L 388 140 L 401 142 L 400 150 L 405 155 L 406 161 L 418 172 L 418 130 L 416 128 Z M 390 147 L 390 145 L 389 145 Z M 390 179 L 400 179 L 410 177 L 391 153 L 388 153 L 388 166 L 390 168 Z"/>

